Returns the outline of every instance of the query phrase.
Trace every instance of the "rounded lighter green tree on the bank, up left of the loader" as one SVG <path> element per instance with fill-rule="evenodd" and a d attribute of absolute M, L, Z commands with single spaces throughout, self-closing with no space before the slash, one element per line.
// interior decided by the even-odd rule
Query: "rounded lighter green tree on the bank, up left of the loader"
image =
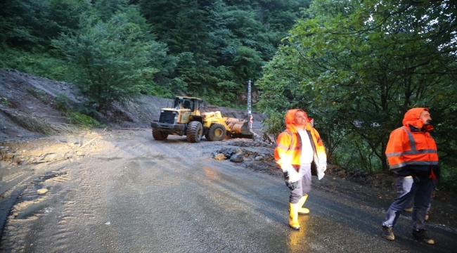
<path fill-rule="evenodd" d="M 84 18 L 77 33 L 53 42 L 75 66 L 76 84 L 89 103 L 106 110 L 113 101 L 124 102 L 153 86 L 160 70 L 151 67 L 151 56 L 165 48 L 149 39 L 128 15 L 118 13 L 108 22 Z"/>

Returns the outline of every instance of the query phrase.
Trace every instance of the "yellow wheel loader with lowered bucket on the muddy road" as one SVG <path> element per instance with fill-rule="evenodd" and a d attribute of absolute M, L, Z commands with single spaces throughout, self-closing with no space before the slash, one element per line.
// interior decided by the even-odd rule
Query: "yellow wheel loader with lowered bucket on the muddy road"
<path fill-rule="evenodd" d="M 222 117 L 220 111 L 203 112 L 205 102 L 200 98 L 176 96 L 172 108 L 160 110 L 160 117 L 150 123 L 153 138 L 165 140 L 169 134 L 187 136 L 191 143 L 200 142 L 202 136 L 208 141 L 229 138 L 252 138 L 245 119 Z"/>

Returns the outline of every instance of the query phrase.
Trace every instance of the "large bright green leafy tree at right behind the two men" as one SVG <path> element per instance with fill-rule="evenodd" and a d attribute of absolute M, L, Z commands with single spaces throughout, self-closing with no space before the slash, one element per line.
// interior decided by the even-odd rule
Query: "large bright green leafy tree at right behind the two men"
<path fill-rule="evenodd" d="M 409 108 L 427 107 L 446 157 L 455 143 L 440 144 L 457 126 L 454 7 L 451 1 L 314 1 L 266 67 L 262 107 L 277 106 L 271 97 L 278 91 L 292 106 L 306 98 L 303 108 L 323 117 L 324 129 L 360 141 L 361 160 L 373 154 L 383 170 L 390 131 Z"/>

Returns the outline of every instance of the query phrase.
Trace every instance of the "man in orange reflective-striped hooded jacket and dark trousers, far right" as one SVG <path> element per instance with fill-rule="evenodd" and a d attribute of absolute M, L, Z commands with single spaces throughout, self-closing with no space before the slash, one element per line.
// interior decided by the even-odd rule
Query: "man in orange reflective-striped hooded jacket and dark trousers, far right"
<path fill-rule="evenodd" d="M 390 134 L 385 155 L 394 172 L 397 198 L 382 222 L 382 238 L 394 240 L 392 228 L 400 213 L 413 201 L 413 237 L 432 245 L 425 233 L 425 214 L 435 181 L 439 179 L 437 144 L 430 136 L 432 118 L 427 108 L 413 108 L 404 115 L 403 126 Z"/>

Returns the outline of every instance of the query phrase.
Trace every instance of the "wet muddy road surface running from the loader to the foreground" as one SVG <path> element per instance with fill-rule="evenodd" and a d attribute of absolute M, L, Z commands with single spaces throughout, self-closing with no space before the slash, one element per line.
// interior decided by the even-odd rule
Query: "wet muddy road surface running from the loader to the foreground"
<path fill-rule="evenodd" d="M 84 143 L 81 136 L 56 137 Z M 241 141 L 247 143 L 249 141 Z M 435 246 L 413 240 L 401 216 L 396 240 L 380 237 L 385 206 L 368 194 L 331 190 L 314 179 L 300 216 L 288 226 L 288 188 L 280 174 L 253 169 L 252 158 L 217 161 L 240 141 L 153 140 L 150 129 L 112 131 L 95 152 L 25 165 L 1 196 L 1 252 L 455 252 L 455 228 L 429 223 Z M 270 153 L 272 147 L 245 145 Z M 260 163 L 262 165 L 262 163 Z M 266 162 L 264 164 L 267 164 Z M 254 166 L 254 165 L 252 165 Z M 267 165 L 265 165 L 267 166 Z M 14 168 L 10 168 L 14 169 Z M 20 177 L 20 176 L 16 176 Z M 6 178 L 6 177 L 4 177 Z M 13 182 L 13 176 L 6 178 Z M 5 185 L 3 182 L 2 184 Z M 343 183 L 343 182 L 342 182 Z M 362 186 L 359 191 L 369 191 Z M 38 194 L 37 190 L 48 190 Z"/>

